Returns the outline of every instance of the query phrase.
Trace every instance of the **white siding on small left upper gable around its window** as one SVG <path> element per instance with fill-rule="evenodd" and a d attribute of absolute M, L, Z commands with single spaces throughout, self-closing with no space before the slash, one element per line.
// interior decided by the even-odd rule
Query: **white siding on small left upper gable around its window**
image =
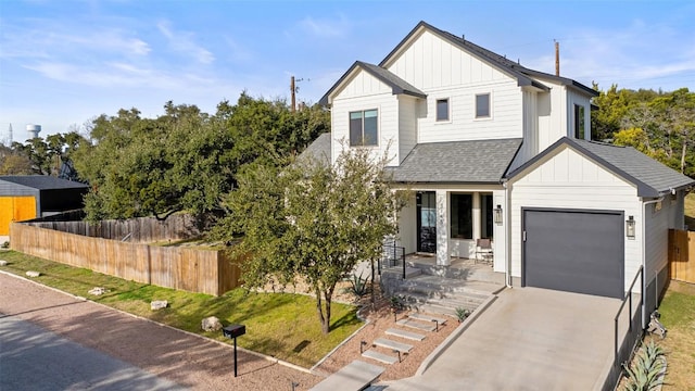
<path fill-rule="evenodd" d="M 331 109 L 331 159 L 334 163 L 343 148 L 350 146 L 350 112 L 378 111 L 378 146 L 372 156 L 380 157 L 389 150 L 390 164 L 399 156 L 399 99 L 392 89 L 364 71 L 357 72 L 333 98 Z"/>

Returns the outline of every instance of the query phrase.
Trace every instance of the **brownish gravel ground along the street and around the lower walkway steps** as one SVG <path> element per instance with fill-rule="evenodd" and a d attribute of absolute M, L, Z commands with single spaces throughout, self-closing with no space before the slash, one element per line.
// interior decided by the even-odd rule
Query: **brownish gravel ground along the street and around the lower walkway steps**
<path fill-rule="evenodd" d="M 374 310 L 363 311 L 370 321 L 338 348 L 309 374 L 281 365 L 252 352 L 239 351 L 239 376 L 233 377 L 232 348 L 210 339 L 137 318 L 103 305 L 0 273 L 0 313 L 31 321 L 47 330 L 140 367 L 151 374 L 195 390 L 307 390 L 353 360 L 387 367 L 379 380 L 415 375 L 420 363 L 456 328 L 455 320 L 429 332 L 424 341 L 386 336 L 395 326 L 386 300 Z M 399 319 L 407 313 L 399 313 Z M 364 358 L 359 342 L 389 338 L 414 345 L 401 363 L 386 365 Z M 369 346 L 366 346 L 369 348 Z M 382 353 L 394 353 L 380 348 Z"/>

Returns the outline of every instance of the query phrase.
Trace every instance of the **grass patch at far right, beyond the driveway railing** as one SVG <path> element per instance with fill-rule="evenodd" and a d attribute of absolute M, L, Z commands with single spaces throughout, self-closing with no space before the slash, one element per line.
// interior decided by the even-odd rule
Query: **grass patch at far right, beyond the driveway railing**
<path fill-rule="evenodd" d="M 667 354 L 665 390 L 695 390 L 695 285 L 674 281 L 664 297 L 661 323 L 667 337 L 655 338 Z"/>

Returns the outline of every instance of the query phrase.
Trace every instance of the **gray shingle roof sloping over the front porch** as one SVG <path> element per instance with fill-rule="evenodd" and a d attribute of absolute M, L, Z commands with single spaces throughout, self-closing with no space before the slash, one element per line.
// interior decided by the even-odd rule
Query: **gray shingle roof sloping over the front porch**
<path fill-rule="evenodd" d="M 498 184 L 520 146 L 521 139 L 419 143 L 390 172 L 399 182 Z"/>

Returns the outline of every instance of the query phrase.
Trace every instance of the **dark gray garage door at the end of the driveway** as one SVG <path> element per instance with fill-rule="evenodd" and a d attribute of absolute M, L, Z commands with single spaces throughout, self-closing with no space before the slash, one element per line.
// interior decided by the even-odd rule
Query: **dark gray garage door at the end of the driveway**
<path fill-rule="evenodd" d="M 523 210 L 522 285 L 622 298 L 622 213 Z"/>

